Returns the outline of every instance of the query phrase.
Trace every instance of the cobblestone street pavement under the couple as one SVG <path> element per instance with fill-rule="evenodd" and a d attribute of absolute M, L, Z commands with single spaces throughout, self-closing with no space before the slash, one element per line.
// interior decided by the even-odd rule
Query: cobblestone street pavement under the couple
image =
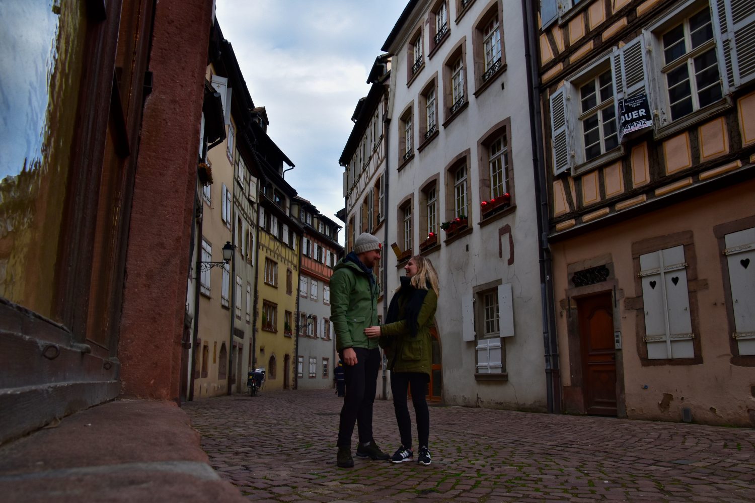
<path fill-rule="evenodd" d="M 355 455 L 344 469 L 332 391 L 183 407 L 213 468 L 251 501 L 755 501 L 749 428 L 433 406 L 432 465 Z M 398 447 L 390 402 L 375 402 L 374 438 Z"/>

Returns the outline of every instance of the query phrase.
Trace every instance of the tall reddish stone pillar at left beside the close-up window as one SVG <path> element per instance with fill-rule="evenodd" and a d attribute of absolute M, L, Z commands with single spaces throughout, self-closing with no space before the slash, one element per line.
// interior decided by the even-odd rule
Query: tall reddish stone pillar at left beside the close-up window
<path fill-rule="evenodd" d="M 122 394 L 177 400 L 212 0 L 156 2 L 120 333 Z"/>

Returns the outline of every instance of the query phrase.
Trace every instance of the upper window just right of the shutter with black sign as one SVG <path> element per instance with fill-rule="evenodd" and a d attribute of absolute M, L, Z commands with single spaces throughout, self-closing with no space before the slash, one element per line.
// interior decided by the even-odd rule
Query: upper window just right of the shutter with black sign
<path fill-rule="evenodd" d="M 710 8 L 661 35 L 663 69 L 671 121 L 723 97 Z"/>

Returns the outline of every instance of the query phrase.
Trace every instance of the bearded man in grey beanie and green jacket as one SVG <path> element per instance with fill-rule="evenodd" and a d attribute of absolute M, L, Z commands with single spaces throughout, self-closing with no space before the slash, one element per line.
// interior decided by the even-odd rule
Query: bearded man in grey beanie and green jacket
<path fill-rule="evenodd" d="M 372 268 L 381 258 L 380 241 L 367 232 L 356 238 L 354 250 L 338 261 L 331 276 L 331 323 L 336 350 L 344 361 L 346 397 L 338 425 L 337 465 L 351 468 L 351 436 L 359 432 L 356 455 L 388 459 L 372 438 L 372 403 L 381 367 L 377 340 L 365 335 L 365 328 L 377 324 L 377 295 Z"/>

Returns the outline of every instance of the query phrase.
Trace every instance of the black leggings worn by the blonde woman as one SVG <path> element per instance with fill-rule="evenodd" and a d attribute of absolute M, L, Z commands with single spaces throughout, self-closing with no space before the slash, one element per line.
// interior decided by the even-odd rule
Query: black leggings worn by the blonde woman
<path fill-rule="evenodd" d="M 411 418 L 406 404 L 408 387 L 411 385 L 411 403 L 417 416 L 417 436 L 421 446 L 427 446 L 430 437 L 430 411 L 427 409 L 427 374 L 417 372 L 390 373 L 390 391 L 393 393 L 393 409 L 396 410 L 396 422 L 399 423 L 401 443 L 411 449 Z"/>

